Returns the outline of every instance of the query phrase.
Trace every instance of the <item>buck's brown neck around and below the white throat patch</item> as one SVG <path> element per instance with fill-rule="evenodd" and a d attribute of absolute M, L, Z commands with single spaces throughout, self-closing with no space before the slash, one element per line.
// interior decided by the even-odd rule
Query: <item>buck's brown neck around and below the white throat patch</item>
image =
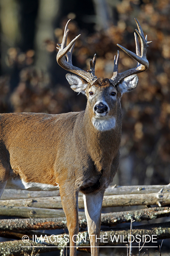
<path fill-rule="evenodd" d="M 119 116 L 117 117 L 117 115 Z M 93 116 L 87 106 L 83 117 L 82 131 L 85 136 L 87 150 L 100 171 L 110 168 L 113 158 L 118 154 L 121 141 L 122 112 L 120 109 L 115 115 L 115 127 L 105 131 L 96 129 L 92 118 Z"/>

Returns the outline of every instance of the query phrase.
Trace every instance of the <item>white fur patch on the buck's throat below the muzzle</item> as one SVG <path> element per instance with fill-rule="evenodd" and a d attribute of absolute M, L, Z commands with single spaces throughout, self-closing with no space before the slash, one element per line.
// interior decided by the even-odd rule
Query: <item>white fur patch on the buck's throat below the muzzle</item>
<path fill-rule="evenodd" d="M 111 129 L 114 129 L 116 127 L 116 118 L 96 118 L 92 117 L 92 124 L 98 131 L 109 131 Z"/>

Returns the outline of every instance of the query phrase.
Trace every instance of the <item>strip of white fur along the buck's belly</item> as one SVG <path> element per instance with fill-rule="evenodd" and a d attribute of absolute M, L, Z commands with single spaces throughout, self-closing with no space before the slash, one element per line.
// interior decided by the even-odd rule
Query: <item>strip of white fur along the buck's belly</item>
<path fill-rule="evenodd" d="M 39 182 L 25 182 L 22 179 L 14 178 L 14 179 L 8 179 L 6 187 L 5 188 L 13 188 L 13 189 L 21 189 L 21 190 L 30 190 L 30 191 L 41 191 L 41 190 L 58 190 L 59 185 L 56 183 L 56 186 L 45 184 L 45 183 L 39 183 Z"/>

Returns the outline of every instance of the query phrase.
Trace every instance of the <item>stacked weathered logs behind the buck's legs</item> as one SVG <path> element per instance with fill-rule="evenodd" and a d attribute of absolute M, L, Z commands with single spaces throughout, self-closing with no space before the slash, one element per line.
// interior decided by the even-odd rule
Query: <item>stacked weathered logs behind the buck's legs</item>
<path fill-rule="evenodd" d="M 57 196 L 56 196 L 57 195 Z M 79 208 L 84 208 L 82 195 L 78 199 Z M 141 205 L 147 208 L 122 212 L 111 212 L 101 214 L 101 225 L 105 230 L 101 230 L 101 236 L 107 237 L 107 245 L 114 245 L 116 240 L 112 240 L 114 235 L 127 241 L 130 234 L 129 228 L 116 228 L 115 226 L 124 222 L 131 222 L 131 219 L 140 222 L 142 220 L 153 220 L 170 216 L 170 184 L 166 186 L 109 186 L 105 192 L 102 207 L 132 206 Z M 154 205 L 157 207 L 151 207 Z M 0 215 L 15 216 L 15 219 L 0 220 L 0 237 L 16 239 L 15 241 L 1 242 L 0 255 L 19 255 L 20 253 L 34 253 L 61 250 L 69 243 L 60 235 L 60 243 L 50 243 L 49 235 L 40 233 L 38 230 L 64 229 L 66 218 L 63 212 L 61 197 L 57 191 L 16 191 L 5 189 L 0 200 Z M 85 214 L 79 211 L 79 227 L 81 230 L 87 226 Z M 107 227 L 112 227 L 107 229 Z M 157 239 L 170 238 L 170 222 L 141 225 L 133 228 L 133 236 L 157 235 Z M 34 240 L 36 238 L 38 240 Z M 43 235 L 43 236 L 42 236 Z M 22 237 L 27 236 L 29 241 L 25 243 Z M 54 236 L 54 235 L 53 235 Z M 77 243 L 78 250 L 89 251 L 89 238 L 86 231 L 79 232 L 78 236 L 86 238 Z M 39 239 L 45 238 L 45 242 Z M 51 247 L 51 246 L 55 247 Z M 105 245 L 105 241 L 100 241 L 100 246 Z M 25 247 L 26 246 L 26 247 Z M 35 247 L 40 246 L 40 247 Z M 58 246 L 58 247 L 56 247 Z M 84 248 L 83 248 L 84 247 Z"/>

